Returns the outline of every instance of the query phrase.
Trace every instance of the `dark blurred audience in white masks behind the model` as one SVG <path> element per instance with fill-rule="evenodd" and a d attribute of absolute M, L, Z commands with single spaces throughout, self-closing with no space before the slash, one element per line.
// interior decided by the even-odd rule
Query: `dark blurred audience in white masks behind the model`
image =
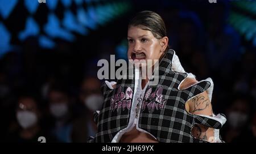
<path fill-rule="evenodd" d="M 167 6 L 148 10 L 163 17 L 171 49 L 185 71 L 197 80 L 213 79 L 213 111 L 228 119 L 222 139 L 256 142 L 255 46 L 228 24 L 225 3 L 201 12 L 184 9 L 181 3 Z M 126 20 L 118 19 L 75 44 L 60 40 L 53 50 L 40 49 L 36 38 L 30 37 L 22 49 L 4 55 L 0 59 L 2 142 L 38 142 L 39 136 L 46 142 L 86 142 L 94 136 L 92 104 L 102 101 L 103 82 L 97 78 L 97 61 L 115 54 L 118 41 L 126 38 Z M 113 32 L 117 23 L 124 25 L 120 33 Z"/>

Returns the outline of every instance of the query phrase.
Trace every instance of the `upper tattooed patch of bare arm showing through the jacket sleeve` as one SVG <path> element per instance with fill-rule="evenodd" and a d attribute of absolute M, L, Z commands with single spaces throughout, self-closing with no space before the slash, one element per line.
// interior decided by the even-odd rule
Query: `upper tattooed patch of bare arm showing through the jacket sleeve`
<path fill-rule="evenodd" d="M 194 104 L 194 109 L 192 112 L 204 110 L 210 105 L 209 99 L 205 99 L 204 96 L 196 96 L 192 99 L 192 102 Z"/>

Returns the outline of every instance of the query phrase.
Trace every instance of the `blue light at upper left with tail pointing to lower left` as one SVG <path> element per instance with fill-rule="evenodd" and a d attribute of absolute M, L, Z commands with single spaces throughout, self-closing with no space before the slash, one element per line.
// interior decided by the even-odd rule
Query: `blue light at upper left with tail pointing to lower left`
<path fill-rule="evenodd" d="M 19 33 L 19 40 L 23 41 L 28 36 L 35 36 L 39 34 L 39 26 L 33 18 L 28 18 L 24 31 Z"/>

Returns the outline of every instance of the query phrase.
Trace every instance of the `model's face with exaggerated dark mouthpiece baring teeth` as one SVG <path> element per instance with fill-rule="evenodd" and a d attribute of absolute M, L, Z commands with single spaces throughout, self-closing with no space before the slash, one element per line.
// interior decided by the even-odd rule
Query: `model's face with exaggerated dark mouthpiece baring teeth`
<path fill-rule="evenodd" d="M 151 31 L 139 27 L 131 26 L 128 29 L 127 39 L 129 44 L 128 59 L 137 59 L 138 61 L 151 59 L 154 63 L 154 59 L 160 59 L 165 49 L 164 45 L 161 44 L 162 40 L 155 38 Z"/>

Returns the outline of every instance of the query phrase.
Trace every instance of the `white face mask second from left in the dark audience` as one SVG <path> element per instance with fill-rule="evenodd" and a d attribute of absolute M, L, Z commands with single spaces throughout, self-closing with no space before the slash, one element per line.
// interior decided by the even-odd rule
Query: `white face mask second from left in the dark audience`
<path fill-rule="evenodd" d="M 60 117 L 63 117 L 68 112 L 68 104 L 67 103 L 51 104 L 49 109 L 51 114 L 54 117 L 60 118 Z"/>

